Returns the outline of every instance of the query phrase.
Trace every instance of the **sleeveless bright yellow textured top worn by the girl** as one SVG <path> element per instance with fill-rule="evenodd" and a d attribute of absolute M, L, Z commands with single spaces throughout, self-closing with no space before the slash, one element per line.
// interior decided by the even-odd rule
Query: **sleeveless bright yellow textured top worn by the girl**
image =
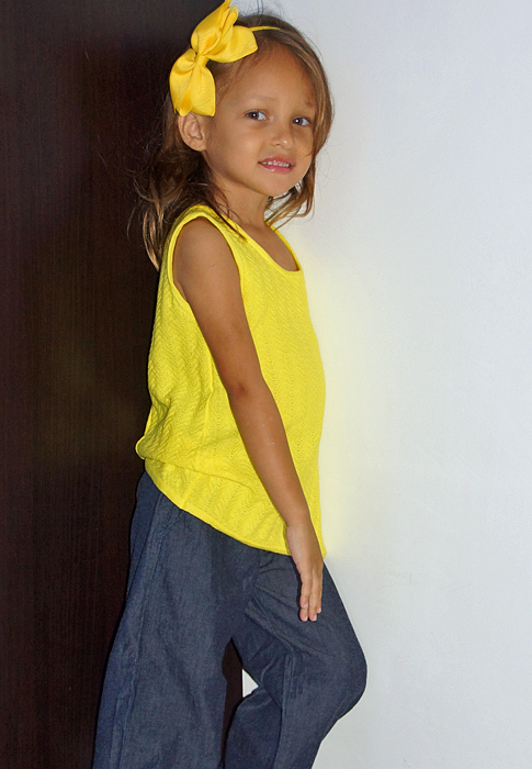
<path fill-rule="evenodd" d="M 224 235 L 237 264 L 262 375 L 272 391 L 321 550 L 318 444 L 325 380 L 303 271 L 280 267 L 244 230 L 207 207 L 174 224 L 162 258 L 148 361 L 151 410 L 137 452 L 156 486 L 179 508 L 247 545 L 288 554 L 285 524 L 254 471 L 211 352 L 173 283 L 181 229 L 203 216 Z M 281 237 L 281 236 L 280 236 Z"/>

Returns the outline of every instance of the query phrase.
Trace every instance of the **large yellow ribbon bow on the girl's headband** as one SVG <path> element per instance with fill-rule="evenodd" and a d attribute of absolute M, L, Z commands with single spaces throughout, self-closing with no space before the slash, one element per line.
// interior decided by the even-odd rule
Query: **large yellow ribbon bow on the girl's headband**
<path fill-rule="evenodd" d="M 235 26 L 238 8 L 225 0 L 192 33 L 191 48 L 178 58 L 170 73 L 170 96 L 180 115 L 196 112 L 214 115 L 216 99 L 213 74 L 206 67 L 213 62 L 238 62 L 257 51 L 252 30 L 271 27 Z"/>

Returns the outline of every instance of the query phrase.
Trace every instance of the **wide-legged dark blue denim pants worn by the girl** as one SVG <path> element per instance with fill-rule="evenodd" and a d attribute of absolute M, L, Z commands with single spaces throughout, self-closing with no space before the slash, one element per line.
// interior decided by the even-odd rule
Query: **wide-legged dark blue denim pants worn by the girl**
<path fill-rule="evenodd" d="M 290 556 L 226 536 L 145 473 L 94 769 L 309 769 L 362 695 L 365 660 L 327 569 L 316 622 L 298 618 L 298 592 Z M 222 758 L 230 638 L 258 688 L 238 705 Z"/>

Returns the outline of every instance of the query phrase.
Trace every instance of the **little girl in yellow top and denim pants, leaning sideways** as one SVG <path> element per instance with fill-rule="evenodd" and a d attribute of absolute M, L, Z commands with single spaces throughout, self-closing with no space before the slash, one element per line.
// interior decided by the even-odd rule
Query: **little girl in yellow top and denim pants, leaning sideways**
<path fill-rule="evenodd" d="M 324 567 L 324 377 L 303 271 L 273 221 L 307 213 L 330 127 L 316 53 L 226 0 L 170 75 L 145 212 L 160 267 L 146 472 L 95 769 L 308 769 L 365 661 Z M 220 756 L 224 649 L 258 688 Z"/>

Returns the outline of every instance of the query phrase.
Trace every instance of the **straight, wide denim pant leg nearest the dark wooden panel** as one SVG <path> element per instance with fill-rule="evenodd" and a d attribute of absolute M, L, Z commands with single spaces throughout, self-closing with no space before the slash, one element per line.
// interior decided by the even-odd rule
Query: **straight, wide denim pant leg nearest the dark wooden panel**
<path fill-rule="evenodd" d="M 147 476 L 132 535 L 94 769 L 216 769 L 222 658 L 249 601 L 259 551 L 173 505 Z"/>

